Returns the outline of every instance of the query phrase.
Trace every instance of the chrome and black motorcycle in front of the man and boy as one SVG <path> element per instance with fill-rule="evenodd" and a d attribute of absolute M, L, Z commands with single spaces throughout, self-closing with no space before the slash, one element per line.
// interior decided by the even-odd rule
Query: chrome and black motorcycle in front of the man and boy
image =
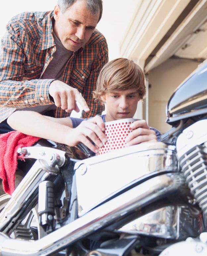
<path fill-rule="evenodd" d="M 204 62 L 171 96 L 158 142 L 94 157 L 43 139 L 20 148 L 0 255 L 207 255 L 206 77 Z"/>

